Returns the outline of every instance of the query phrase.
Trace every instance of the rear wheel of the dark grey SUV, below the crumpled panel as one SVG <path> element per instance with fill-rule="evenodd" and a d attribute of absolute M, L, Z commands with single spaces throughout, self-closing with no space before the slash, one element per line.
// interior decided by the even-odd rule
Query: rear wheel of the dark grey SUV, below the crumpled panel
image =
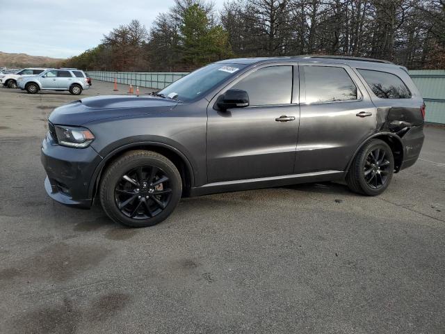
<path fill-rule="evenodd" d="M 391 148 L 385 141 L 372 139 L 355 156 L 346 175 L 346 183 L 355 193 L 377 196 L 387 189 L 393 175 Z"/>

